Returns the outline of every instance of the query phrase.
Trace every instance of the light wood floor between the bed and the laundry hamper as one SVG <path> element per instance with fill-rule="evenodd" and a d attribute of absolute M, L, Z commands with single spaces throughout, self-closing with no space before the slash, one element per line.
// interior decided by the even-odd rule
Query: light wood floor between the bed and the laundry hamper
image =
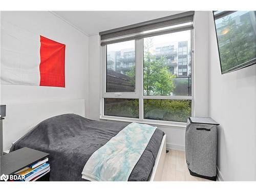
<path fill-rule="evenodd" d="M 185 153 L 170 150 L 165 157 L 162 181 L 210 181 L 189 174 Z"/>

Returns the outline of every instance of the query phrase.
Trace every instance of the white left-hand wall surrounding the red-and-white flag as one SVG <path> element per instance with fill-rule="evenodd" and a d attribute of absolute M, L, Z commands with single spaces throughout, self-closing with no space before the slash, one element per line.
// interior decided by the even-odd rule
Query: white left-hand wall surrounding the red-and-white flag
<path fill-rule="evenodd" d="M 88 116 L 88 36 L 47 11 L 1 12 L 2 19 L 34 34 L 66 44 L 66 88 L 1 84 L 1 104 L 7 104 L 7 116 L 8 104 L 72 99 L 85 99 L 85 114 Z"/>

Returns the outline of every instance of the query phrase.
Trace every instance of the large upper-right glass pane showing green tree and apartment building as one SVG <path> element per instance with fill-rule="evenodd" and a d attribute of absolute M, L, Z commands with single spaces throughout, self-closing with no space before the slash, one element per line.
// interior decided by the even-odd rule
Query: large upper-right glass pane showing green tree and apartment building
<path fill-rule="evenodd" d="M 191 30 L 147 37 L 143 44 L 144 95 L 191 96 Z"/>

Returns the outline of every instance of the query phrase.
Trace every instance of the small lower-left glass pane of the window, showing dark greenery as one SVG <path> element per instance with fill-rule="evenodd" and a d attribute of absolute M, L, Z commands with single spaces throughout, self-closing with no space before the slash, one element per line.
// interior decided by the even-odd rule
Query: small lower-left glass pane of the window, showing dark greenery
<path fill-rule="evenodd" d="M 104 115 L 139 118 L 139 99 L 104 98 Z"/>

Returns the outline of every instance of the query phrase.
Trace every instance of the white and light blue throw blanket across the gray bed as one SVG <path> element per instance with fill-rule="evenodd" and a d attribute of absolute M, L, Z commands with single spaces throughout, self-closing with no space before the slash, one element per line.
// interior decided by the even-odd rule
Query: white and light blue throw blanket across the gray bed
<path fill-rule="evenodd" d="M 131 123 L 100 147 L 83 167 L 90 181 L 127 181 L 157 127 Z"/>

